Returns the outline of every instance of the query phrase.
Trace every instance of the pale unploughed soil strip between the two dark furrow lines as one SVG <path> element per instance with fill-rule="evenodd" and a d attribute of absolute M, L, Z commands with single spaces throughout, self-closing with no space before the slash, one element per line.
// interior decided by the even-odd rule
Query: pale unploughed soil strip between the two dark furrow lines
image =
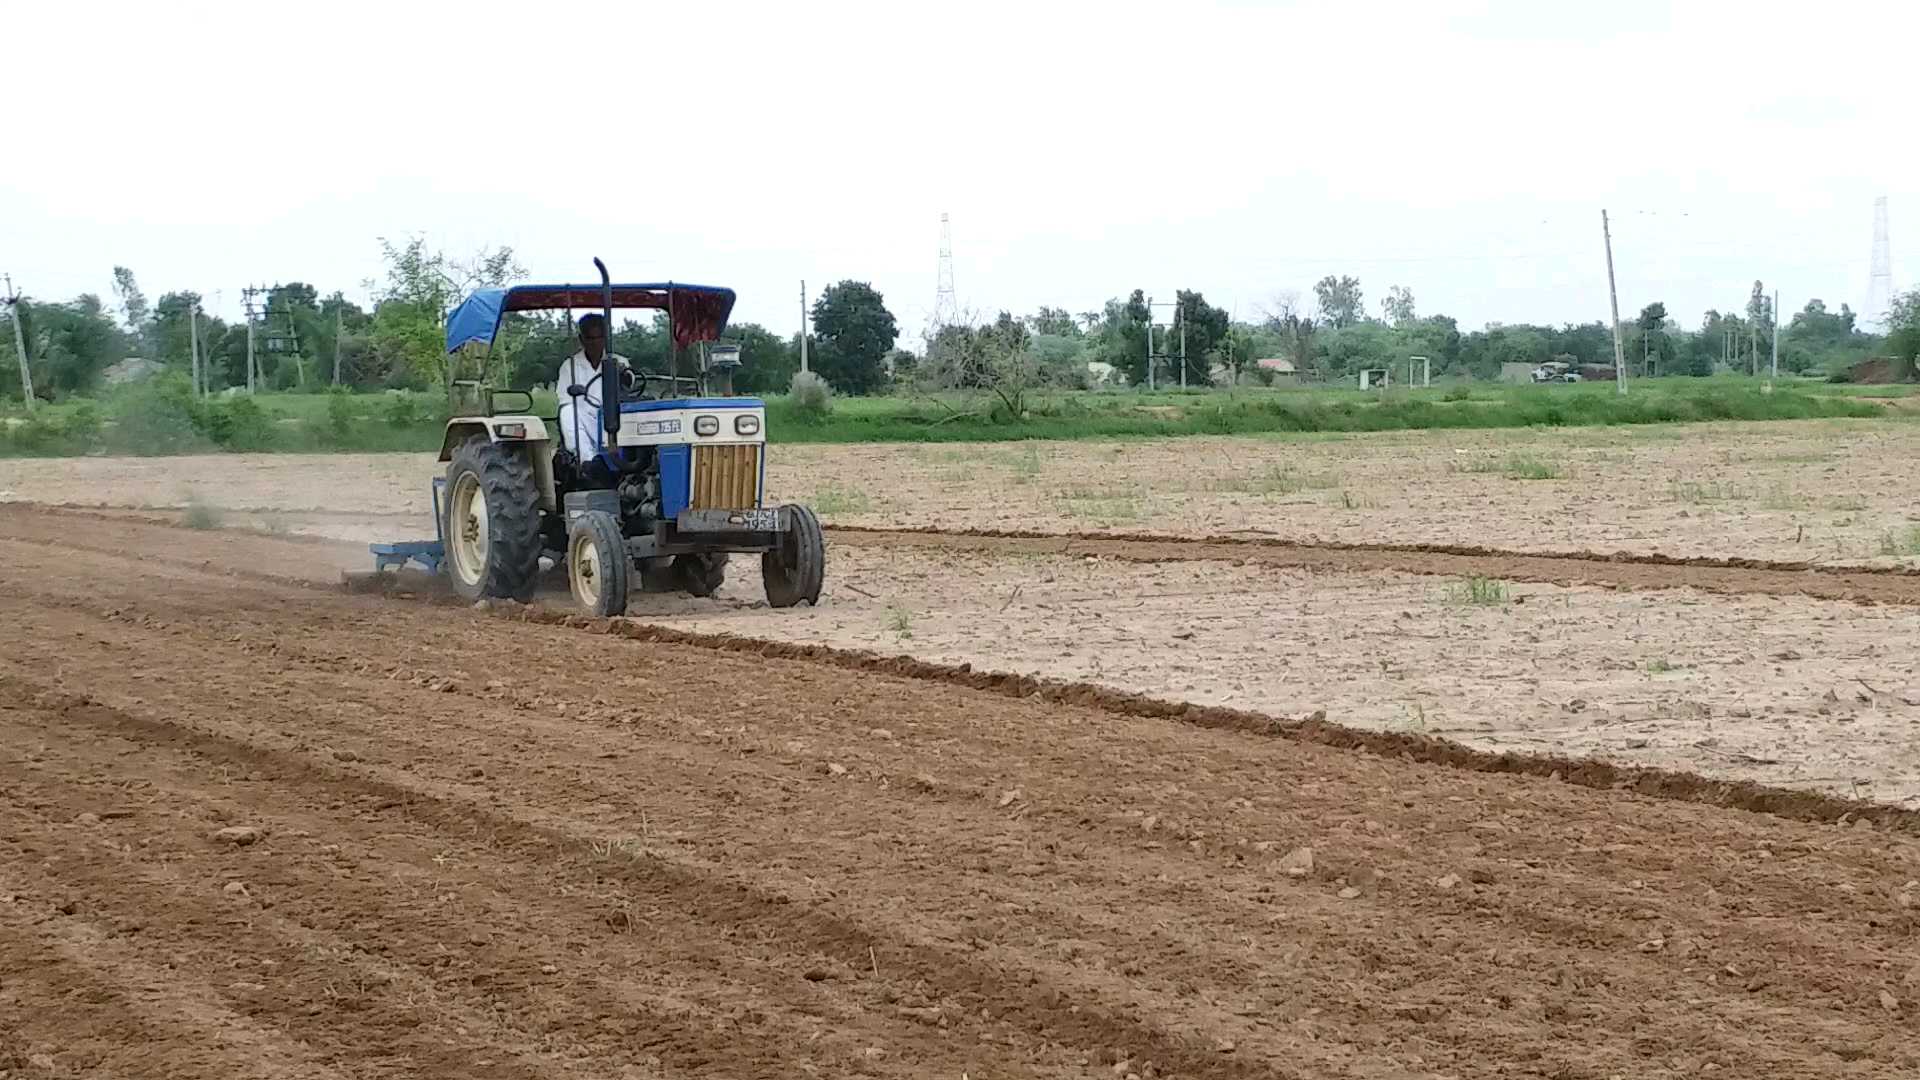
<path fill-rule="evenodd" d="M 367 569 L 353 544 L 232 528 L 190 534 L 217 561 L 182 561 L 180 530 L 156 527 L 179 515 L 163 511 L 0 517 L 42 542 L 132 544 L 242 577 L 330 586 Z M 1152 715 L 1319 713 L 1344 730 L 1546 761 L 1540 774 L 1578 757 L 1603 763 L 1609 784 L 1605 769 L 1659 769 L 1920 809 L 1920 663 L 1905 648 L 1920 609 L 1905 573 L 847 528 L 829 544 L 822 607 L 766 611 L 755 563 L 735 559 L 716 598 L 636 594 L 630 615 L 751 648 L 856 650 L 1173 701 Z M 1505 596 L 1475 603 L 1471 578 Z M 543 601 L 572 611 L 564 582 L 545 584 Z"/>

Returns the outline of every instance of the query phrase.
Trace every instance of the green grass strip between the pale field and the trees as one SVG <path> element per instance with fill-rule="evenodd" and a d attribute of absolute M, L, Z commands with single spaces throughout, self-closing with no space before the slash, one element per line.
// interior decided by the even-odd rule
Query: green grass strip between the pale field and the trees
<path fill-rule="evenodd" d="M 184 390 L 184 380 L 177 380 Z M 1185 434 L 1267 434 L 1332 438 L 1346 432 L 1428 429 L 1561 429 L 1764 419 L 1920 419 L 1860 400 L 1882 386 L 1782 380 L 1772 394 L 1743 377 L 1645 379 L 1626 396 L 1611 384 L 1515 386 L 1453 384 L 1430 390 L 1238 388 L 1167 392 L 1056 392 L 1029 398 L 1027 415 L 1000 423 L 968 415 L 960 398 L 837 398 L 826 417 L 803 417 L 787 398 L 768 398 L 768 438 L 780 442 L 1012 442 L 1037 438 L 1156 438 Z M 551 394 L 532 409 L 551 417 Z M 250 452 L 413 452 L 438 450 L 445 425 L 440 392 L 259 394 L 192 402 L 159 382 L 115 390 L 98 400 L 61 402 L 31 417 L 0 409 L 0 455 Z M 970 455 L 970 461 L 977 455 Z M 1014 480 L 1041 469 L 1039 455 L 1016 457 Z M 1286 494 L 1284 475 L 1250 480 L 1260 494 Z M 1311 479 L 1304 486 L 1317 486 Z"/>

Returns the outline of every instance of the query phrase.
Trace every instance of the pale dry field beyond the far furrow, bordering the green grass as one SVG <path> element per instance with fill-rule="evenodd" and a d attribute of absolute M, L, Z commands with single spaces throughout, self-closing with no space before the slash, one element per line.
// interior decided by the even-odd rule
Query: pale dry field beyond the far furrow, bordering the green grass
<path fill-rule="evenodd" d="M 1788 421 L 954 446 L 776 446 L 833 525 L 1267 536 L 1920 567 L 1920 425 Z M 1559 479 L 1524 480 L 1513 465 Z M 227 507 L 348 540 L 430 534 L 426 454 L 0 461 L 0 502 Z"/>

